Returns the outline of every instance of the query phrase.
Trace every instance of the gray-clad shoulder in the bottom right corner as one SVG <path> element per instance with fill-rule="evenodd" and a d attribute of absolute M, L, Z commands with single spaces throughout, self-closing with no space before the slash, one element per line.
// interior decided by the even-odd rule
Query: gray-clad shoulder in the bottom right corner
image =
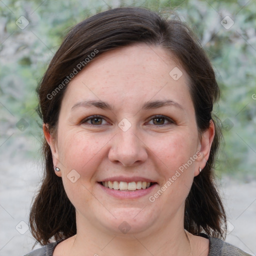
<path fill-rule="evenodd" d="M 208 256 L 250 256 L 250 254 L 219 238 L 209 237 Z"/>

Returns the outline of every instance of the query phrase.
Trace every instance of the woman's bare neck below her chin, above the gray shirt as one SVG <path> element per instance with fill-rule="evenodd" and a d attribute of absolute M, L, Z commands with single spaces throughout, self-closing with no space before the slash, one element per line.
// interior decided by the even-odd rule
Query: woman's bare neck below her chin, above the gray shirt
<path fill-rule="evenodd" d="M 78 218 L 79 219 L 79 218 Z M 82 219 L 77 223 L 69 255 L 168 255 L 189 256 L 191 251 L 188 236 L 183 229 L 183 220 L 173 219 L 167 225 L 162 223 L 158 228 L 144 230 L 139 233 L 109 233 L 98 230 Z M 78 220 L 79 221 L 79 220 Z"/>

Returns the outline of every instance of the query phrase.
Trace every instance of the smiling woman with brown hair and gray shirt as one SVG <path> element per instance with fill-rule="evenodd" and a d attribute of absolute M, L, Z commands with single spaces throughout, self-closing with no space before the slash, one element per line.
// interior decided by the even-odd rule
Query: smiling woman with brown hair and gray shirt
<path fill-rule="evenodd" d="M 182 22 L 135 7 L 85 19 L 38 95 L 45 175 L 30 227 L 45 246 L 27 255 L 248 255 L 219 239 L 219 89 Z"/>

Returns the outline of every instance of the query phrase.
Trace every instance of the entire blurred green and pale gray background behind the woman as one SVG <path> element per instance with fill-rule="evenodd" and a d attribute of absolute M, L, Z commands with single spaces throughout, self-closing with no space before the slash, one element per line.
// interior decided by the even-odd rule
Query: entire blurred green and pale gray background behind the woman
<path fill-rule="evenodd" d="M 23 255 L 34 243 L 28 215 L 42 174 L 35 88 L 69 29 L 117 6 L 174 9 L 200 38 L 221 90 L 215 171 L 226 241 L 256 255 L 255 0 L 0 0 L 0 255 Z"/>

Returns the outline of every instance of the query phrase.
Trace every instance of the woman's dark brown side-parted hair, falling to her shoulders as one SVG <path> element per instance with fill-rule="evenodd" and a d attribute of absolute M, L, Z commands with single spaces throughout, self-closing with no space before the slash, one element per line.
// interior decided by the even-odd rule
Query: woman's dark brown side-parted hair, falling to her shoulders
<path fill-rule="evenodd" d="M 93 15 L 75 25 L 52 58 L 37 88 L 38 112 L 50 132 L 57 129 L 60 103 L 68 86 L 67 76 L 74 69 L 77 71 L 81 63 L 82 67 L 86 66 L 85 58 L 91 56 L 91 52 L 99 55 L 136 42 L 160 45 L 175 56 L 190 78 L 189 90 L 198 131 L 203 132 L 209 127 L 219 89 L 211 64 L 196 37 L 176 18 L 163 18 L 144 8 L 120 7 Z M 213 177 L 219 137 L 220 131 L 215 123 L 207 164 L 194 177 L 185 201 L 184 228 L 192 234 L 205 232 L 209 236 L 223 237 L 225 233 L 226 216 Z M 74 235 L 76 223 L 75 208 L 67 198 L 61 178 L 53 170 L 46 140 L 43 155 L 43 181 L 33 201 L 29 223 L 32 235 L 44 245 L 50 238 L 58 240 Z"/>

